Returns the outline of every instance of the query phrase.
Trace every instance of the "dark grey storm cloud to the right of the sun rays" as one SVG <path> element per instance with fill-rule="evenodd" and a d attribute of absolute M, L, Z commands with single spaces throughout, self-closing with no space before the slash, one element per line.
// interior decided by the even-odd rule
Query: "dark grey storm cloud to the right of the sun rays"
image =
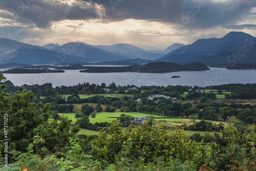
<path fill-rule="evenodd" d="M 91 0 L 105 7 L 111 19 L 150 19 L 178 23 L 186 28 L 205 29 L 234 24 L 241 17 L 251 15 L 255 0 Z M 119 3 L 118 3 L 119 2 Z"/>

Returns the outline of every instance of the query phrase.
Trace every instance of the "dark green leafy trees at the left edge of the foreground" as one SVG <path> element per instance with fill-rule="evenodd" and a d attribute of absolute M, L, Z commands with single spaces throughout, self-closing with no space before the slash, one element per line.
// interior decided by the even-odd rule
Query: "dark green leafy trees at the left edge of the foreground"
<path fill-rule="evenodd" d="M 4 79 L 0 75 L 0 80 Z M 4 86 L 2 85 L 1 88 Z M 60 123 L 56 120 L 49 120 L 52 112 L 48 110 L 47 105 L 31 103 L 33 94 L 28 90 L 17 91 L 14 95 L 0 91 L 0 111 L 1 121 L 8 116 L 8 131 L 6 127 L 1 128 L 1 152 L 3 152 L 3 140 L 9 139 L 9 151 L 15 149 L 19 152 L 25 152 L 28 145 L 33 142 L 36 135 L 43 135 L 47 140 L 46 147 L 49 151 L 65 151 L 69 137 L 73 137 L 79 131 L 78 126 L 71 126 L 67 117 L 60 117 Z M 5 119 L 6 120 L 6 119 Z M 4 138 L 5 137 L 5 138 Z M 1 153 L 3 155 L 3 153 Z"/>

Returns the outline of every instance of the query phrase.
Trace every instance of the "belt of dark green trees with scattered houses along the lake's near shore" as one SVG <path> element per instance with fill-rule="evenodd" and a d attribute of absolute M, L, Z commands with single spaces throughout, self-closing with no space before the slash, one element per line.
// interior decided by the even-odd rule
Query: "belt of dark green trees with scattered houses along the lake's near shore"
<path fill-rule="evenodd" d="M 6 81 L 3 84 L 8 85 L 8 88 L 3 89 L 4 92 L 14 94 L 15 91 L 22 91 L 23 87 L 15 87 L 10 81 Z M 51 83 L 39 85 L 24 85 L 27 90 L 34 93 L 32 102 L 42 102 L 44 104 L 51 103 L 49 109 L 52 111 L 58 111 L 60 113 L 73 112 L 74 104 L 80 103 L 97 103 L 96 109 L 90 105 L 86 105 L 88 110 L 84 109 L 84 113 L 89 116 L 92 112 L 115 112 L 120 110 L 121 112 L 144 112 L 155 115 L 165 115 L 167 117 L 189 117 L 191 115 L 197 115 L 198 119 L 204 120 L 228 120 L 230 116 L 236 116 L 237 119 L 246 123 L 255 123 L 255 107 L 253 104 L 236 104 L 230 100 L 216 101 L 216 96 L 219 94 L 225 94 L 226 97 L 232 98 L 256 96 L 256 84 L 228 84 L 222 86 L 214 86 L 210 88 L 216 88 L 216 92 L 204 92 L 199 87 L 188 86 L 141 86 L 136 87 L 134 85 L 116 86 L 115 83 L 106 86 L 105 83 L 100 85 L 82 83 L 76 86 L 61 86 L 52 88 Z M 201 90 L 200 90 L 201 89 Z M 217 91 L 218 90 L 218 91 Z M 231 92 L 225 92 L 231 91 Z M 184 95 L 184 92 L 187 92 Z M 234 93 L 233 93 L 234 92 Z M 78 94 L 79 93 L 79 94 Z M 91 94 L 86 98 L 81 98 L 81 94 Z M 98 94 L 102 93 L 102 94 Z M 118 97 L 113 96 L 119 93 Z M 62 94 L 71 94 L 67 98 Z M 111 96 L 108 96 L 111 94 Z M 150 96 L 159 94 L 161 96 L 149 99 Z M 41 98 L 44 96 L 45 98 Z M 173 97 L 178 100 L 191 100 L 191 102 L 181 104 L 170 98 L 163 96 Z M 139 100 L 139 101 L 138 101 Z M 200 102 L 199 102 L 200 101 Z M 229 102 L 230 101 L 230 102 Z M 227 103 L 228 102 L 228 103 Z M 84 105 L 84 104 L 83 104 Z M 104 109 L 101 105 L 106 105 Z M 239 110 L 238 110 L 239 109 Z M 201 111 L 200 111 L 201 110 Z M 246 112 L 250 110 L 250 112 Z M 76 111 L 79 112 L 79 111 Z M 247 119 L 246 119 L 247 118 Z"/>

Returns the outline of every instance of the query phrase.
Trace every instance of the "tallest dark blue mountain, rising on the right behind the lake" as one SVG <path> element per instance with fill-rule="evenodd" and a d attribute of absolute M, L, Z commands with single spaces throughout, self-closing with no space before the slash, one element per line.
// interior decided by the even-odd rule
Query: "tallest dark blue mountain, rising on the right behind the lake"
<path fill-rule="evenodd" d="M 232 53 L 244 48 L 246 41 L 255 41 L 256 38 L 243 32 L 230 32 L 222 38 L 199 39 L 191 45 L 181 47 L 173 52 L 168 53 L 156 61 L 167 62 L 207 62 L 212 63 L 227 63 L 232 62 L 230 59 Z M 253 44 L 256 44 L 254 42 Z M 247 45 L 249 46 L 249 45 Z M 240 62 L 254 62 L 256 55 L 256 47 L 253 46 L 246 52 Z M 238 59 L 237 59 L 238 60 Z"/>

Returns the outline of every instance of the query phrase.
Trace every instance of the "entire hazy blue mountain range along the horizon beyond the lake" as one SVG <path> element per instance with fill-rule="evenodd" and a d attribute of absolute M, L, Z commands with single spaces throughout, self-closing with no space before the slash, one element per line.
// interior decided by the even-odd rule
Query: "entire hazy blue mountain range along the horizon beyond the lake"
<path fill-rule="evenodd" d="M 92 46 L 84 42 L 43 47 L 0 38 L 0 63 L 49 64 L 57 62 L 175 63 L 205 62 L 208 66 L 231 62 L 255 62 L 256 38 L 244 32 L 230 32 L 222 38 L 198 39 L 193 44 L 173 44 L 164 51 L 143 50 L 129 44 Z M 116 62 L 120 61 L 120 62 Z M 111 64 L 110 64 L 111 65 Z"/>

